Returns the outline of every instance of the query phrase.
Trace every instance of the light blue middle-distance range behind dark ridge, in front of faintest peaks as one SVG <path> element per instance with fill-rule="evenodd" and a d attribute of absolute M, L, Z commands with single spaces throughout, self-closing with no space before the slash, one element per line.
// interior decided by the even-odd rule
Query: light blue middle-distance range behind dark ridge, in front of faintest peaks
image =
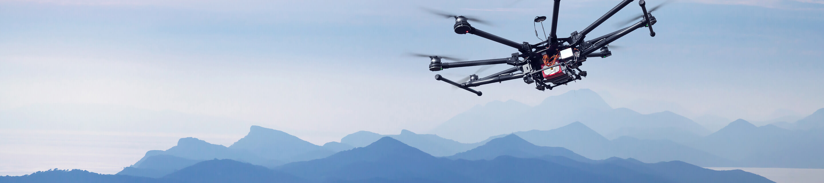
<path fill-rule="evenodd" d="M 468 146 L 470 148 L 475 148 L 485 143 L 491 143 L 497 138 L 503 138 L 509 135 L 501 134 L 492 136 L 484 141 L 481 141 L 480 143 L 458 143 L 456 141 L 438 137 L 438 135 L 434 134 L 414 134 L 407 130 L 404 131 L 405 132 L 401 132 L 401 135 L 382 135 L 367 131 L 360 131 L 358 133 L 347 135 L 341 139 L 341 142 L 353 143 L 353 146 L 355 146 L 358 144 L 372 143 L 381 137 L 403 137 L 398 139 L 403 143 L 426 142 L 424 139 L 438 139 L 438 142 L 442 143 L 408 144 L 414 148 L 419 148 L 424 152 L 429 152 L 424 149 L 438 149 L 438 151 L 434 152 L 449 152 L 440 153 L 441 156 L 438 157 L 454 157 L 457 156 L 457 154 L 465 153 L 455 150 L 456 148 L 454 147 L 467 148 Z M 639 139 L 628 136 L 622 136 L 620 138 L 609 140 L 601 134 L 598 134 L 596 131 L 590 129 L 586 124 L 580 122 L 567 124 L 558 129 L 533 129 L 530 131 L 515 132 L 512 134 L 517 134 L 517 136 L 526 140 L 528 143 L 534 143 L 544 147 L 566 148 L 590 159 L 624 157 L 634 158 L 642 162 L 683 161 L 702 167 L 734 167 L 739 165 L 739 163 L 731 161 L 727 158 L 719 157 L 712 153 L 705 152 L 704 150 L 683 145 L 681 143 L 672 142 L 670 140 Z M 435 155 L 436 153 L 430 154 Z"/>

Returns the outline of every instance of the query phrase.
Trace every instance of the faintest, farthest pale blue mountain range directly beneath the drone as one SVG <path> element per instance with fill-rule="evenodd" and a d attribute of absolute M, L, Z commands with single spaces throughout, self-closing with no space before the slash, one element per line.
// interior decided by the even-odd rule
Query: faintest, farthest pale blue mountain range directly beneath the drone
<path fill-rule="evenodd" d="M 456 115 L 429 133 L 474 143 L 499 134 L 556 129 L 575 121 L 607 138 L 630 136 L 682 143 L 710 134 L 695 121 L 669 111 L 643 115 L 626 108 L 613 109 L 589 89 L 549 96 L 537 106 L 517 101 L 489 102 Z"/>

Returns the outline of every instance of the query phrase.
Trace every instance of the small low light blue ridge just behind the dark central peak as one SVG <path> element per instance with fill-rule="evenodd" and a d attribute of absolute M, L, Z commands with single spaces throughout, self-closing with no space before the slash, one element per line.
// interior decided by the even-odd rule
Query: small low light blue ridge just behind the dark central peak
<path fill-rule="evenodd" d="M 439 137 L 434 134 L 415 134 L 410 130 L 400 130 L 400 134 L 376 134 L 368 131 L 359 131 L 341 138 L 341 143 L 354 147 L 365 147 L 383 137 L 391 137 L 414 148 L 427 152 L 436 157 L 451 156 L 457 152 L 465 152 L 486 143 L 459 143 L 454 140 Z"/>

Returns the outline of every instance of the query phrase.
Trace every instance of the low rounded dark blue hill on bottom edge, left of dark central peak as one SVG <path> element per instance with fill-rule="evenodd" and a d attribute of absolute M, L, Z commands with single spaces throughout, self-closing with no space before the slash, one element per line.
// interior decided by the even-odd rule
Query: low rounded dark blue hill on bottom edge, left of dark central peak
<path fill-rule="evenodd" d="M 192 183 L 306 182 L 297 176 L 231 159 L 198 162 L 191 167 L 163 176 L 160 181 Z"/>

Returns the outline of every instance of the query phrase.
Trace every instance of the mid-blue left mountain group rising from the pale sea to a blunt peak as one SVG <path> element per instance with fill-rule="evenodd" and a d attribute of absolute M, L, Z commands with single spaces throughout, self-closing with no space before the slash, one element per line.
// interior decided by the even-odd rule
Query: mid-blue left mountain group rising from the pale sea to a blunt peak
<path fill-rule="evenodd" d="M 347 146 L 318 146 L 283 131 L 251 126 L 246 137 L 229 147 L 198 138 L 180 138 L 175 147 L 165 151 L 148 151 L 138 162 L 125 167 L 117 175 L 161 177 L 194 163 L 216 158 L 277 167 L 288 162 L 328 157 L 339 152 L 340 147 Z"/>

